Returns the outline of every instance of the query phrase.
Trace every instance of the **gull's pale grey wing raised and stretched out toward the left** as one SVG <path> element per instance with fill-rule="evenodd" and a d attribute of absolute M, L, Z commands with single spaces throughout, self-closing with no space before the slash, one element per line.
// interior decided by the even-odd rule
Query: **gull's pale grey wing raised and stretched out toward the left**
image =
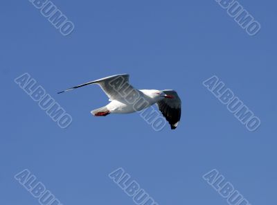
<path fill-rule="evenodd" d="M 106 93 L 110 100 L 125 98 L 127 94 L 130 92 L 134 92 L 137 90 L 129 84 L 129 75 L 128 74 L 120 74 L 120 75 L 111 75 L 106 78 L 101 78 L 99 80 L 93 80 L 91 82 L 87 82 L 84 84 L 80 84 L 75 87 L 71 87 L 64 91 L 60 91 L 59 93 L 64 93 L 66 91 L 70 91 L 72 89 L 76 89 L 78 87 L 83 87 L 88 84 L 99 84 L 101 89 Z"/>

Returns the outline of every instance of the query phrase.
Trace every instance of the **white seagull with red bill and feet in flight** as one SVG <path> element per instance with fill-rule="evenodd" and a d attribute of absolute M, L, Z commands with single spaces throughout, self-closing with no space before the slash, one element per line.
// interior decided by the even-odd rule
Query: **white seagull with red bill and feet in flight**
<path fill-rule="evenodd" d="M 174 90 L 135 89 L 129 84 L 128 74 L 111 75 L 106 78 L 93 80 L 58 93 L 64 93 L 89 84 L 98 84 L 106 93 L 110 103 L 104 107 L 91 111 L 93 116 L 107 116 L 108 114 L 129 114 L 139 112 L 154 104 L 175 130 L 181 118 L 181 99 Z"/>

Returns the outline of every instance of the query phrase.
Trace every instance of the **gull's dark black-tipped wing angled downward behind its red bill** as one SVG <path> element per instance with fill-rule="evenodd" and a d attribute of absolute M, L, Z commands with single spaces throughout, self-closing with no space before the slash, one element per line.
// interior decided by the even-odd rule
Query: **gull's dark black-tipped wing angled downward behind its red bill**
<path fill-rule="evenodd" d="M 181 99 L 174 90 L 163 90 L 163 92 L 166 93 L 166 95 L 173 96 L 174 98 L 165 98 L 159 101 L 157 106 L 170 124 L 171 129 L 174 130 L 176 129 L 181 118 Z"/>

